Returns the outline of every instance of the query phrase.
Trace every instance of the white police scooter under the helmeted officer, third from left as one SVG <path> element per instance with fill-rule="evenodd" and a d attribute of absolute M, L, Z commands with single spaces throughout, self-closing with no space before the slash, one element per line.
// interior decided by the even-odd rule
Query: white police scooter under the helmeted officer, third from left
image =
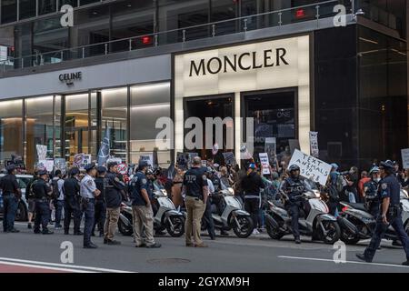
<path fill-rule="evenodd" d="M 300 234 L 333 245 L 341 236 L 340 226 L 336 218 L 329 214 L 328 206 L 321 199 L 319 190 L 306 188 L 301 195 L 303 206 L 298 219 Z M 268 205 L 265 214 L 267 234 L 276 240 L 293 234 L 291 216 L 288 215 L 284 204 L 278 200 L 268 200 Z"/>

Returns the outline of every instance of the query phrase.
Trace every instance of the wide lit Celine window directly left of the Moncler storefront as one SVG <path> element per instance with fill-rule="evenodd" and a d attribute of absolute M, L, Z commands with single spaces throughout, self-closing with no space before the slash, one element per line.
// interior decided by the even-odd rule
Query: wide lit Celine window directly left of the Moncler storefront
<path fill-rule="evenodd" d="M 152 154 L 155 149 L 159 117 L 170 117 L 170 84 L 135 85 L 131 87 L 130 161 L 137 163 L 141 155 Z M 159 147 L 158 163 L 170 163 L 170 148 Z"/>

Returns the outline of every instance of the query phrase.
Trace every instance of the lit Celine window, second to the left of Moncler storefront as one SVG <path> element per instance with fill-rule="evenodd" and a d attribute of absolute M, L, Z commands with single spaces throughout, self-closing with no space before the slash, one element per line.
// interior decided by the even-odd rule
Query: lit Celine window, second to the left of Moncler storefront
<path fill-rule="evenodd" d="M 127 88 L 103 90 L 102 138 L 109 129 L 111 156 L 127 161 Z"/>

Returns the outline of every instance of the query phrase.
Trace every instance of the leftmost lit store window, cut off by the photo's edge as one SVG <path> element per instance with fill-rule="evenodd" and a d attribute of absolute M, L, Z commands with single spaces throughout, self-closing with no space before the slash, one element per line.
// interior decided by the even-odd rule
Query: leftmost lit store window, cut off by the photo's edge
<path fill-rule="evenodd" d="M 23 156 L 23 101 L 0 102 L 0 164 Z"/>

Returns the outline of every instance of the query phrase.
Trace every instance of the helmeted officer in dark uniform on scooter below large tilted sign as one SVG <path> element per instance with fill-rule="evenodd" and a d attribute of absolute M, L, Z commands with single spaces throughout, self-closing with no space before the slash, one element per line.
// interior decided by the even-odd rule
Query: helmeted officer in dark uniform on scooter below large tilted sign
<path fill-rule="evenodd" d="M 300 167 L 291 165 L 288 168 L 290 176 L 284 179 L 280 192 L 284 194 L 285 208 L 291 216 L 291 227 L 293 228 L 295 244 L 301 244 L 300 230 L 298 228 L 298 217 L 300 207 L 303 206 L 301 195 L 304 193 L 305 186 L 300 179 Z"/>

